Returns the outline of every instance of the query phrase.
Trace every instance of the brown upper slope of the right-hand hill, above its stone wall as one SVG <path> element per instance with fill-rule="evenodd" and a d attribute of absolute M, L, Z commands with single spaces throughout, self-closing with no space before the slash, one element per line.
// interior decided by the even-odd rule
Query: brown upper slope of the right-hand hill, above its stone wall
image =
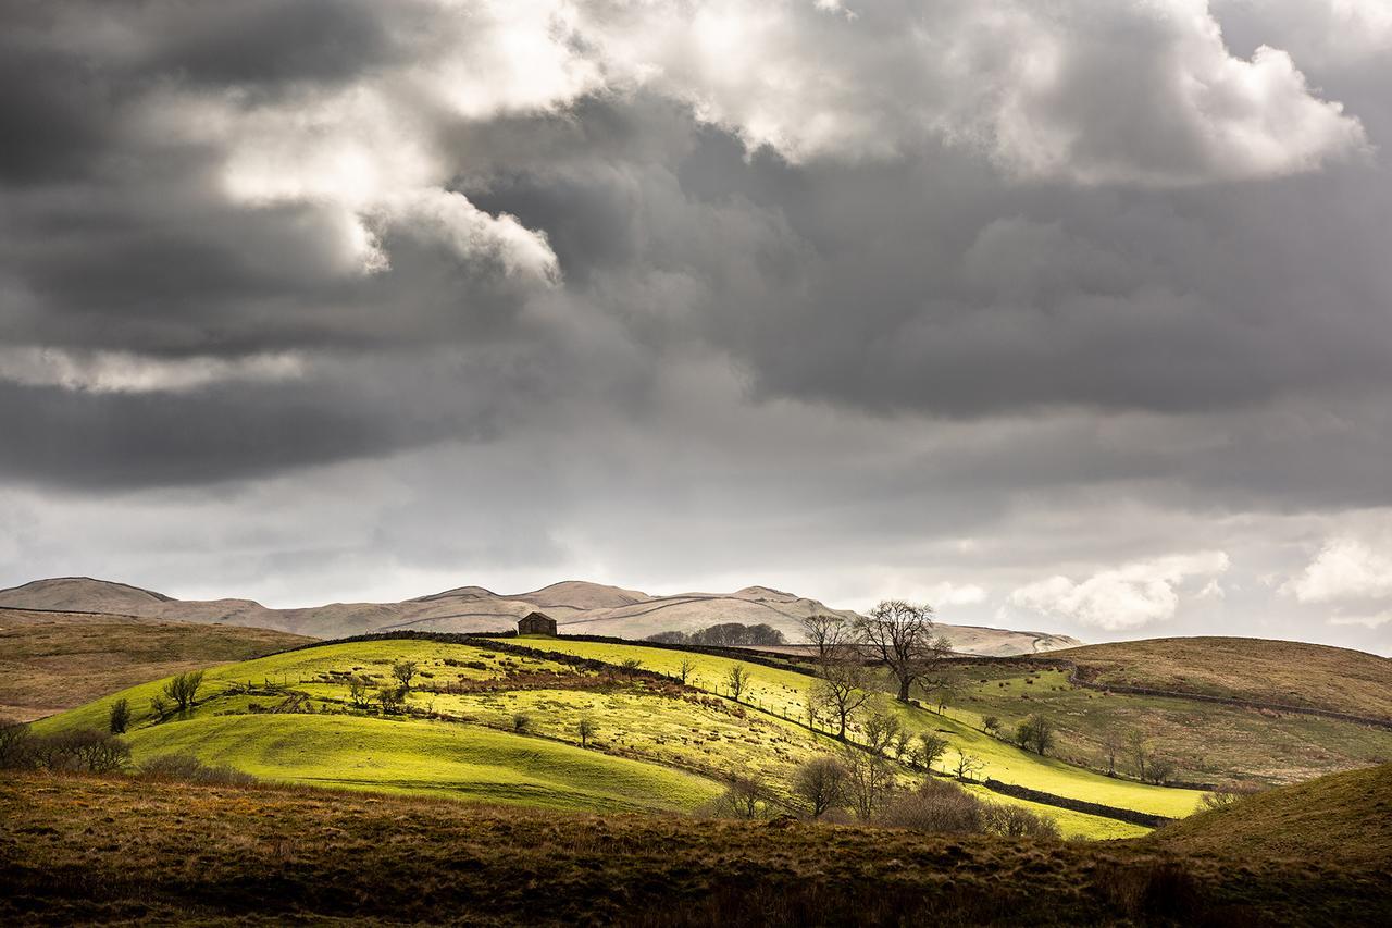
<path fill-rule="evenodd" d="M 1297 641 L 1148 638 L 1055 651 L 1111 686 L 1392 719 L 1392 659 Z"/>

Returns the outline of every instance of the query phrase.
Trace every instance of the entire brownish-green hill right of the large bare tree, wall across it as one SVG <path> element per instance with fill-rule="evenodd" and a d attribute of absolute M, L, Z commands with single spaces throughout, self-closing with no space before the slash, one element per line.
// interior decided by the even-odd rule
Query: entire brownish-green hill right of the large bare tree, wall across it
<path fill-rule="evenodd" d="M 1295 783 L 1392 759 L 1392 725 L 1375 723 L 1392 699 L 1392 660 L 1342 648 L 1157 638 L 963 658 L 945 686 L 952 718 L 984 727 L 994 716 L 1009 733 L 1044 715 L 1061 757 L 1126 776 L 1141 764 L 1134 738 L 1147 764 L 1169 762 L 1175 779 L 1197 783 Z"/>

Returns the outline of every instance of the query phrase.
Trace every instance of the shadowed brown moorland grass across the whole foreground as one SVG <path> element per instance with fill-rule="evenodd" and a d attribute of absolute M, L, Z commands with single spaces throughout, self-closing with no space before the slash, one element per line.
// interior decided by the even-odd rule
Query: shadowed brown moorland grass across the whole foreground
<path fill-rule="evenodd" d="M 22 775 L 0 779 L 0 920 L 1254 925 L 1392 915 L 1385 871 L 1367 861 L 1175 847 Z"/>

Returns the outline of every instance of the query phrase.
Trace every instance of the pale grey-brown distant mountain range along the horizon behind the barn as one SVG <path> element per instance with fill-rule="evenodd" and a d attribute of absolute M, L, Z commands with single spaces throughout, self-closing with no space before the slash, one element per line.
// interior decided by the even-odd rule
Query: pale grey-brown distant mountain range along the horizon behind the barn
<path fill-rule="evenodd" d="M 335 602 L 305 609 L 269 609 L 252 599 L 174 599 L 128 584 L 89 577 L 57 577 L 0 591 L 0 608 L 4 606 L 224 623 L 278 628 L 317 638 L 393 630 L 507 631 L 526 613 L 540 610 L 557 620 L 561 634 L 646 638 L 658 631 L 695 631 L 721 621 L 738 621 L 766 623 L 782 631 L 788 641 L 799 641 L 799 623 L 806 616 L 856 614 L 767 587 L 746 587 L 732 594 L 651 596 L 636 589 L 578 580 L 523 594 L 459 587 L 405 602 Z M 1068 635 L 1038 631 L 949 624 L 941 624 L 940 628 L 955 649 L 966 654 L 1004 656 L 1080 644 Z"/>

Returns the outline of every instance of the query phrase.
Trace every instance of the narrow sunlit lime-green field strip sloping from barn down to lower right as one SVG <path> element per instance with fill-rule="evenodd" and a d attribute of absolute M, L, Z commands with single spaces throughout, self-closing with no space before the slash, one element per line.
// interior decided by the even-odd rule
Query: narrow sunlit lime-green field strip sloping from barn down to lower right
<path fill-rule="evenodd" d="M 692 665 L 688 681 L 692 686 L 715 693 L 728 691 L 729 672 L 739 663 L 749 674 L 743 701 L 766 715 L 781 715 L 789 719 L 806 718 L 807 697 L 812 687 L 816 686 L 814 677 L 803 673 L 766 667 L 731 658 L 693 655 L 683 651 L 629 644 L 575 641 L 564 637 L 522 637 L 509 638 L 509 641 L 522 647 L 533 647 L 539 651 L 574 654 L 611 663 L 638 660 L 642 667 L 665 674 L 678 673 L 682 662 L 686 660 Z M 966 752 L 984 762 L 983 776 L 990 776 L 1004 783 L 1171 818 L 1190 814 L 1201 796 L 1201 793 L 1194 790 L 1166 789 L 1101 776 L 1070 766 L 1055 758 L 1041 758 L 1029 754 L 951 716 L 942 716 L 892 701 L 887 701 L 885 705 L 892 706 L 901 715 L 909 732 L 931 730 L 948 738 L 951 747 L 940 764 L 942 769 L 954 766 L 956 755 Z"/>

